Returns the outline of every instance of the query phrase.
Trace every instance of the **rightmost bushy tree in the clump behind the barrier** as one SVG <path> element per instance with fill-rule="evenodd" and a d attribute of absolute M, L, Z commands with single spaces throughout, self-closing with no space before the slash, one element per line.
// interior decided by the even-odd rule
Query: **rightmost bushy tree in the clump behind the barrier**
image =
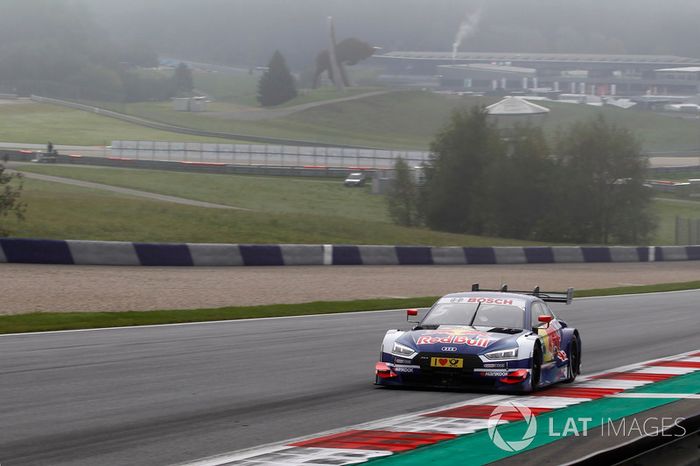
<path fill-rule="evenodd" d="M 637 243 L 654 229 L 648 160 L 632 133 L 602 116 L 564 131 L 557 147 L 557 241 Z"/>

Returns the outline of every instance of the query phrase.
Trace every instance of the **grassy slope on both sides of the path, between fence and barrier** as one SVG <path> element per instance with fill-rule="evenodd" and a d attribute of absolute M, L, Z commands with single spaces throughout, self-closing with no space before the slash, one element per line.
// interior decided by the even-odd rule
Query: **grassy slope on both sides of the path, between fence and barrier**
<path fill-rule="evenodd" d="M 27 237 L 128 241 L 301 242 L 431 245 L 521 245 L 525 241 L 454 235 L 393 225 L 385 200 L 337 180 L 210 175 L 76 166 L 27 172 L 133 188 L 251 209 L 229 212 L 134 199 L 27 180 Z M 700 218 L 700 202 L 658 199 L 653 244 L 673 244 L 675 217 Z M 178 223 L 179 222 L 179 223 Z"/>

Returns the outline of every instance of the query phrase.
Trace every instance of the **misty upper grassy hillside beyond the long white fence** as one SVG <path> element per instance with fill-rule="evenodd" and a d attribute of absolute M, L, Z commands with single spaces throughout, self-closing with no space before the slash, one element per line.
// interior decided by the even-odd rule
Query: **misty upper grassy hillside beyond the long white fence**
<path fill-rule="evenodd" d="M 316 96 L 332 95 L 328 89 Z M 324 144 L 348 144 L 394 149 L 426 150 L 437 131 L 456 108 L 488 105 L 492 97 L 460 97 L 422 91 L 404 91 L 329 103 L 262 121 L 243 121 L 226 117 L 241 107 L 231 101 L 214 102 L 211 112 L 175 112 L 169 102 L 104 104 L 116 111 L 209 131 L 222 131 L 252 136 L 298 139 Z M 591 107 L 545 102 L 551 109 L 544 123 L 550 138 L 557 131 L 576 121 L 603 115 L 609 121 L 630 128 L 647 151 L 682 151 L 700 147 L 700 120 L 688 120 L 641 110 Z M 53 140 L 64 144 L 104 144 L 113 139 L 196 141 L 201 138 L 153 131 L 121 123 L 99 115 L 52 108 L 45 105 L 0 105 L 0 139 L 45 143 Z"/>

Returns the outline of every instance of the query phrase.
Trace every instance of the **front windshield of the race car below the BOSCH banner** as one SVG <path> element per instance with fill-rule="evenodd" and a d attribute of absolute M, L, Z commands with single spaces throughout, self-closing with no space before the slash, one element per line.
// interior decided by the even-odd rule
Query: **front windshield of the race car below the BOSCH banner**
<path fill-rule="evenodd" d="M 523 328 L 525 312 L 505 304 L 445 303 L 425 316 L 421 327 L 470 325 L 474 327 Z"/>

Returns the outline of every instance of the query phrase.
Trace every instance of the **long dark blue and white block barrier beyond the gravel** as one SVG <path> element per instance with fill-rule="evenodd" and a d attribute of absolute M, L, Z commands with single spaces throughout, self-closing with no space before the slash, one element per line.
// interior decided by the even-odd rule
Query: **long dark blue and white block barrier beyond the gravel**
<path fill-rule="evenodd" d="M 231 267 L 472 265 L 700 260 L 700 246 L 429 247 L 311 244 L 130 243 L 0 238 L 0 262 Z"/>

